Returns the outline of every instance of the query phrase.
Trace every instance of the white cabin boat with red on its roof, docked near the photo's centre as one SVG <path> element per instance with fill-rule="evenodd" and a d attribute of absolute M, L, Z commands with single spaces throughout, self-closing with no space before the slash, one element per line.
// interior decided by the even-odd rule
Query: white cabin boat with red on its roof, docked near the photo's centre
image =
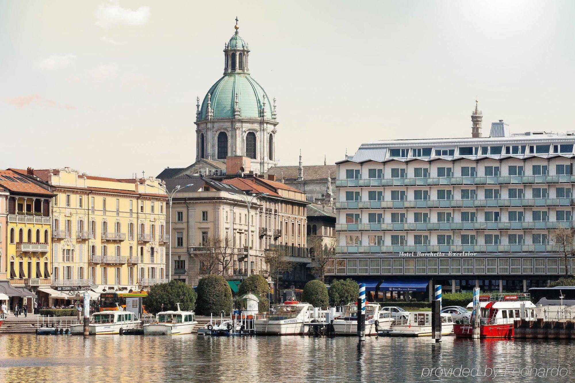
<path fill-rule="evenodd" d="M 313 319 L 313 306 L 298 301 L 285 301 L 269 314 L 256 314 L 256 334 L 298 335 L 307 331 L 305 323 Z"/>

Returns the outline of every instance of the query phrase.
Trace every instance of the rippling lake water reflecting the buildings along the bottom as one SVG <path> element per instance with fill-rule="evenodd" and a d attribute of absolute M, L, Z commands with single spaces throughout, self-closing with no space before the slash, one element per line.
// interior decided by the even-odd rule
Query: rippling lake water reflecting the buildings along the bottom
<path fill-rule="evenodd" d="M 7 382 L 404 382 L 492 381 L 491 377 L 428 377 L 432 367 L 501 368 L 494 381 L 568 381 L 575 343 L 370 337 L 210 337 L 32 334 L 0 335 L 0 381 Z M 513 377 L 513 368 L 565 367 L 566 377 Z M 422 375 L 423 370 L 423 377 Z M 428 370 L 429 369 L 429 370 Z M 492 370 L 488 370 L 492 375 Z M 541 370 L 539 370 L 540 373 Z M 455 371 L 457 373 L 457 370 Z M 526 373 L 526 370 L 523 370 Z M 436 370 L 432 374 L 436 374 Z"/>

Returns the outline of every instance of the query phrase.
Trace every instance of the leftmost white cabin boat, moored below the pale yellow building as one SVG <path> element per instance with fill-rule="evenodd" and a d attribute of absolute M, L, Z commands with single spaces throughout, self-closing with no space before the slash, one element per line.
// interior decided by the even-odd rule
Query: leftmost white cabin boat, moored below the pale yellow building
<path fill-rule="evenodd" d="M 139 328 L 141 321 L 129 311 L 101 311 L 93 313 L 88 325 L 90 335 L 122 334 L 124 330 Z M 84 334 L 82 323 L 70 326 L 72 334 Z"/>

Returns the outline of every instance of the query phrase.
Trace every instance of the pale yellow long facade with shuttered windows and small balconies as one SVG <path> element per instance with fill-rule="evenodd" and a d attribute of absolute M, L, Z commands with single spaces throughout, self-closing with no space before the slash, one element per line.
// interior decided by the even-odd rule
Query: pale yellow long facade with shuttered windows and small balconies
<path fill-rule="evenodd" d="M 166 194 L 153 177 L 33 170 L 52 186 L 52 286 L 106 290 L 166 282 Z"/>

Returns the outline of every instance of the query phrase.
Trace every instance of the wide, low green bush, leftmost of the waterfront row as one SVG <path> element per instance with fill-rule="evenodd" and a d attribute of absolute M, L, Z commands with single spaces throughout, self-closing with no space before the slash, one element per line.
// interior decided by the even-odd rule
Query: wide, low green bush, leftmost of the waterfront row
<path fill-rule="evenodd" d="M 174 279 L 166 284 L 152 286 L 142 303 L 147 312 L 154 314 L 162 311 L 162 303 L 163 311 L 177 310 L 177 303 L 180 304 L 181 310 L 192 311 L 196 308 L 196 298 L 197 294 L 190 285 Z"/>

